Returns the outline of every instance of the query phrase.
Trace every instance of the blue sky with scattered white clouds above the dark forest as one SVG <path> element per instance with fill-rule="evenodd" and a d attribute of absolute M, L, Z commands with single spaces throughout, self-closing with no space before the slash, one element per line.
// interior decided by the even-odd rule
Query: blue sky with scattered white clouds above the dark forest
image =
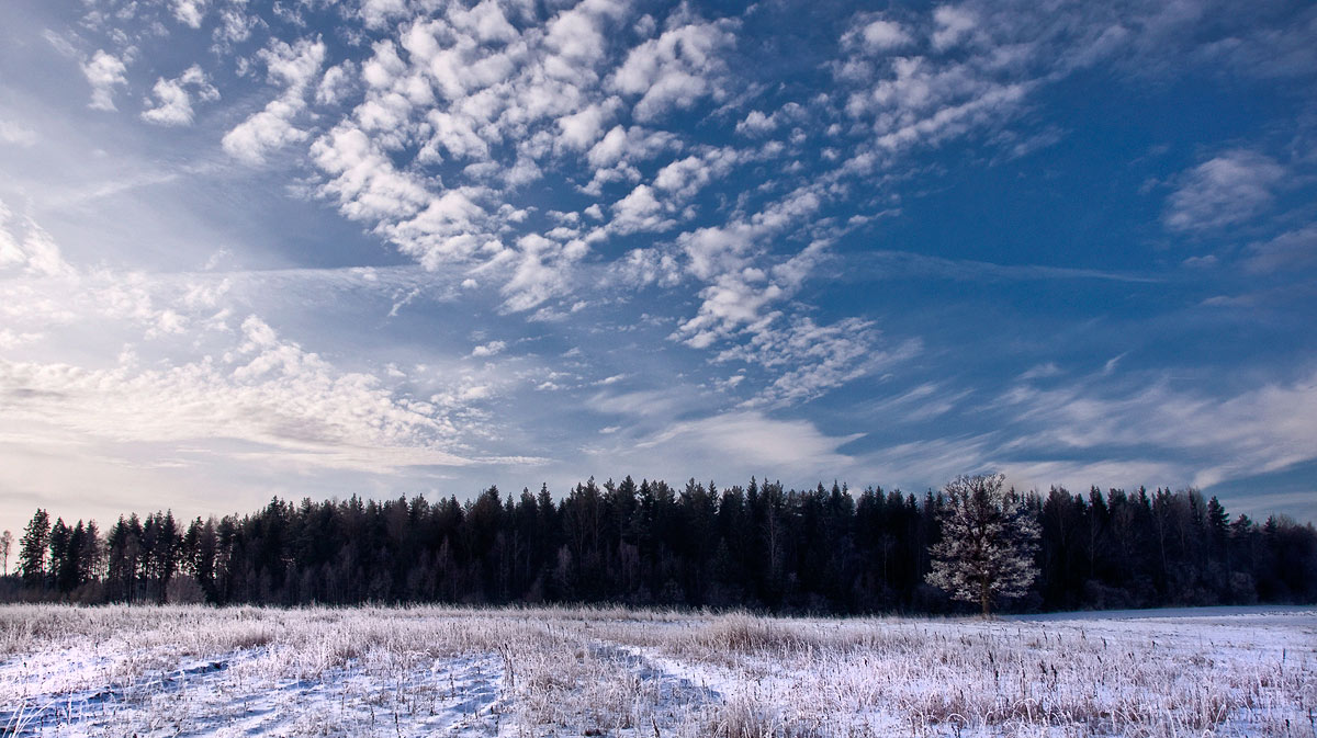
<path fill-rule="evenodd" d="M 0 526 L 598 480 L 1317 520 L 1317 7 L 0 3 Z"/>

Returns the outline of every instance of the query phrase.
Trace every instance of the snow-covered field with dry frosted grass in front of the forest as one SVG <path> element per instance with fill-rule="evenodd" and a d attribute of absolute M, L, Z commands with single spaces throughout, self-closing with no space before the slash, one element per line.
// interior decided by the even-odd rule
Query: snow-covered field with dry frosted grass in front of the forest
<path fill-rule="evenodd" d="M 0 735 L 1317 735 L 1317 609 L 0 608 Z"/>

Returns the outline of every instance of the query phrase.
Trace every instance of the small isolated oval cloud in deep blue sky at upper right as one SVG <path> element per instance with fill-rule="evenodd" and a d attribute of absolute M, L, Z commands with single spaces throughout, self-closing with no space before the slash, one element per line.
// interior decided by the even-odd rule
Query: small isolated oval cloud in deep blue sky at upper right
<path fill-rule="evenodd" d="M 1264 154 L 1225 151 L 1181 175 L 1162 222 L 1171 230 L 1208 232 L 1247 221 L 1271 205 L 1284 176 L 1285 167 Z"/>

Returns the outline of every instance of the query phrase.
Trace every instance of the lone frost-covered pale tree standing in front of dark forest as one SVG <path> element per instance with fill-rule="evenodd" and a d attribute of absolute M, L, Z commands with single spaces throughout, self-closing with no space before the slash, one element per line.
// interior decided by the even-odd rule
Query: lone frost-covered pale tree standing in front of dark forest
<path fill-rule="evenodd" d="M 984 617 L 997 599 L 1019 597 L 1034 583 L 1038 524 L 1004 475 L 957 476 L 946 487 L 942 541 L 932 546 L 928 584 L 977 603 Z"/>

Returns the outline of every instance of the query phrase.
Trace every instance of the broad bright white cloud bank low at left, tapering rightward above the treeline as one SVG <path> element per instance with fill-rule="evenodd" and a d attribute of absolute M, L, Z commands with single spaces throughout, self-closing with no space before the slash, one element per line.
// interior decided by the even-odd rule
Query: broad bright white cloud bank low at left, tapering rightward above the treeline
<path fill-rule="evenodd" d="M 371 375 L 337 372 L 278 339 L 255 317 L 230 367 L 209 359 L 165 370 L 87 370 L 0 360 L 7 424 L 113 442 L 240 439 L 287 464 L 387 472 L 465 464 L 441 449 L 452 429 Z"/>

